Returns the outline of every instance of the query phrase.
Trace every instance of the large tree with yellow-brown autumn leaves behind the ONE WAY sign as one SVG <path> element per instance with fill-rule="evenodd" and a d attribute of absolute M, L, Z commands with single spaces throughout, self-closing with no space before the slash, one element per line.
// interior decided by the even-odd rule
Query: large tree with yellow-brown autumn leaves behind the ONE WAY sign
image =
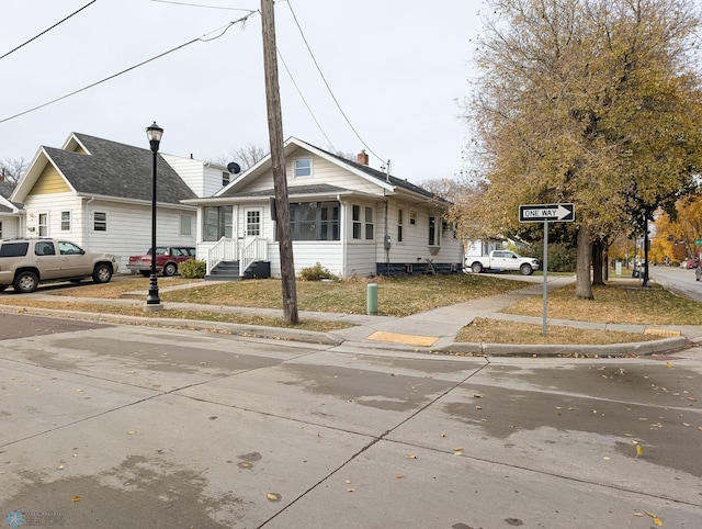
<path fill-rule="evenodd" d="M 516 232 L 521 203 L 574 202 L 576 295 L 593 243 L 691 189 L 702 157 L 692 0 L 486 0 L 467 117 L 480 193 L 465 235 Z"/>

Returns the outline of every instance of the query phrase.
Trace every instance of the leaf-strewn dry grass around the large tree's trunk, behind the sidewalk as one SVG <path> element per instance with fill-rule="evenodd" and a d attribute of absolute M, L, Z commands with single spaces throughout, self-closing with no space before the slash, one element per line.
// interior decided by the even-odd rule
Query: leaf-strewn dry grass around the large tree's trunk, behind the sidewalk
<path fill-rule="evenodd" d="M 595 300 L 577 300 L 575 284 L 548 291 L 547 317 L 579 322 L 638 325 L 702 325 L 700 304 L 653 284 L 641 288 L 637 280 L 622 280 L 592 286 Z M 525 299 L 502 312 L 542 316 L 541 296 Z"/>

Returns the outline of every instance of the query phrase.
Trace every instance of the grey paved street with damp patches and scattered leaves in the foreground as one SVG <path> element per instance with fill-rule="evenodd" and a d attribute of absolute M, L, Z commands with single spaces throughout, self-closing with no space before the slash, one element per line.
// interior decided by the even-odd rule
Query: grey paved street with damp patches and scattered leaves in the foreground
<path fill-rule="evenodd" d="M 469 358 L 1 316 L 5 527 L 702 520 L 700 347 Z"/>

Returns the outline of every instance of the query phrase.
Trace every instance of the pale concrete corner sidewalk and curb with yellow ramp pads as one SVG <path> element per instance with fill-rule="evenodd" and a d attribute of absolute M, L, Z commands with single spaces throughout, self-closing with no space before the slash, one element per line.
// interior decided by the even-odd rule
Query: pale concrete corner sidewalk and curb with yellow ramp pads
<path fill-rule="evenodd" d="M 615 344 L 607 346 L 588 346 L 588 345 L 513 345 L 513 344 L 468 344 L 456 342 L 455 338 L 461 329 L 473 322 L 475 318 L 492 318 L 508 319 L 514 322 L 523 322 L 535 325 L 542 325 L 543 318 L 531 316 L 519 316 L 503 314 L 499 311 L 518 303 L 528 296 L 543 295 L 543 278 L 542 277 L 514 277 L 505 275 L 508 279 L 518 279 L 531 281 L 533 284 L 524 289 L 508 292 L 500 295 L 482 297 L 477 300 L 439 307 L 420 314 L 414 314 L 404 318 L 388 316 L 369 316 L 359 314 L 340 314 L 340 313 L 316 313 L 299 312 L 301 319 L 320 319 L 320 320 L 338 320 L 352 324 L 352 327 L 336 330 L 331 333 L 314 333 L 308 330 L 288 329 L 280 327 L 261 327 L 254 325 L 242 324 L 224 324 L 203 320 L 183 320 L 169 318 L 152 318 L 147 314 L 145 316 L 120 316 L 111 314 L 92 314 L 67 312 L 64 315 L 79 317 L 81 319 L 92 319 L 101 322 L 115 323 L 144 323 L 148 325 L 160 325 L 170 327 L 188 327 L 196 329 L 216 329 L 237 335 L 256 336 L 261 338 L 282 339 L 290 341 L 307 341 L 313 344 L 340 345 L 342 342 L 352 342 L 361 345 L 369 349 L 398 349 L 415 350 L 424 352 L 442 352 L 442 353 L 460 353 L 474 356 L 600 356 L 600 357 L 621 357 L 627 354 L 650 354 L 665 351 L 671 351 L 690 347 L 692 345 L 702 345 L 702 327 L 700 326 L 645 326 L 645 325 L 616 325 L 601 324 L 589 322 L 569 322 L 563 319 L 547 319 L 547 325 L 557 325 L 574 328 L 591 328 L 598 330 L 620 330 L 634 334 L 649 333 L 660 336 L 660 339 L 650 341 Z M 548 290 L 557 289 L 575 281 L 575 277 L 555 275 L 548 278 Z M 179 290 L 189 288 L 190 285 L 167 286 L 160 289 L 161 292 L 169 290 Z M 34 299 L 52 299 L 56 297 L 50 294 L 34 293 L 30 294 Z M 63 297 L 64 300 L 95 303 L 94 299 L 87 297 Z M 122 305 L 140 305 L 146 299 L 146 292 L 132 292 L 125 294 L 121 300 L 100 300 L 100 303 L 122 304 Z M 382 299 L 381 299 L 382 303 Z M 212 311 L 217 313 L 231 314 L 254 314 L 258 316 L 283 317 L 281 309 L 273 308 L 249 308 L 234 307 L 222 305 L 191 305 L 185 303 L 166 303 L 169 308 L 178 309 L 197 309 Z M 18 307 L 14 307 L 16 309 Z M 21 307 L 25 313 L 34 313 L 42 315 L 56 315 L 55 309 L 29 308 Z M 12 309 L 12 307 L 2 307 L 0 309 Z"/>

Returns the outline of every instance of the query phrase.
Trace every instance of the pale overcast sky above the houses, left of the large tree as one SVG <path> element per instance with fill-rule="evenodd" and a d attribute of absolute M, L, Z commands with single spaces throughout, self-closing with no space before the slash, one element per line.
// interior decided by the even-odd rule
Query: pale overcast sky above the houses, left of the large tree
<path fill-rule="evenodd" d="M 276 2 L 283 136 L 366 149 L 371 167 L 389 160 L 393 176 L 414 183 L 458 176 L 478 8 Z M 154 121 L 170 155 L 214 161 L 249 145 L 269 151 L 259 9 L 259 0 L 0 2 L 0 160 L 30 162 L 71 132 L 148 148 Z"/>

